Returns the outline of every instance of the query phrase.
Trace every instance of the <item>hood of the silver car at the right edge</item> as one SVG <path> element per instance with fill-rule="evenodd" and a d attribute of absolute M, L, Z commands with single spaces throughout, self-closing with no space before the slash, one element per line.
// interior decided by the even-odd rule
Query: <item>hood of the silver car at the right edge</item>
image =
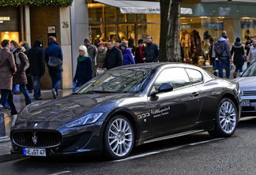
<path fill-rule="evenodd" d="M 256 84 L 254 83 L 256 81 L 256 76 L 238 77 L 235 80 L 239 82 L 241 91 L 256 91 Z"/>

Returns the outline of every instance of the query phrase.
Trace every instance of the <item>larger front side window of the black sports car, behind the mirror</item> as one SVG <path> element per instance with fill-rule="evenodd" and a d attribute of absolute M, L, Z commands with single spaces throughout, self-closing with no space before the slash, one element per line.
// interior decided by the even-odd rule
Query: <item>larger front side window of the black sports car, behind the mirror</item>
<path fill-rule="evenodd" d="M 154 83 L 156 91 L 158 91 L 161 84 L 172 84 L 173 88 L 184 87 L 190 85 L 190 79 L 183 68 L 164 69 L 159 76 L 157 76 Z"/>

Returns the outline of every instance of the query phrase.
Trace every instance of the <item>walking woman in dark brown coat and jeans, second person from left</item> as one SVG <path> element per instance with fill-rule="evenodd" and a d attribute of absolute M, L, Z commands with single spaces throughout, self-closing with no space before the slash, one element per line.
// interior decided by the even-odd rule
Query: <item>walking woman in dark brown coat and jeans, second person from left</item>
<path fill-rule="evenodd" d="M 15 41 L 11 41 L 9 45 L 9 49 L 12 50 L 15 65 L 17 67 L 17 72 L 13 75 L 13 91 L 12 94 L 15 91 L 15 85 L 20 84 L 21 92 L 24 95 L 26 105 L 29 105 L 31 103 L 31 99 L 28 93 L 28 89 L 26 87 L 26 84 L 28 84 L 27 76 L 25 73 L 25 67 L 28 68 L 27 62 L 28 58 L 27 56 L 21 52 L 21 47 L 19 47 L 18 43 Z M 21 63 L 19 63 L 21 61 Z"/>

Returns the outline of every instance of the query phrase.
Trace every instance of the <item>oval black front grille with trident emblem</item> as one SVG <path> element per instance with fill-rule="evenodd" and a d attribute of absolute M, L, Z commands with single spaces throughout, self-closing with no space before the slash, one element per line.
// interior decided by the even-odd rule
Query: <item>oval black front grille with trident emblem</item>
<path fill-rule="evenodd" d="M 56 147 L 62 142 L 59 132 L 17 131 L 12 137 L 13 142 L 21 147 Z"/>

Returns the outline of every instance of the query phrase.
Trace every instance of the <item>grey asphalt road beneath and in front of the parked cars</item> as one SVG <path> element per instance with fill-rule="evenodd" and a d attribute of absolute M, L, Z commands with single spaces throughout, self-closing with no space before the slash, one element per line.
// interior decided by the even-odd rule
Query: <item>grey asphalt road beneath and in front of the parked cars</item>
<path fill-rule="evenodd" d="M 207 132 L 135 147 L 130 157 L 21 158 L 0 163 L 0 174 L 256 174 L 256 117 L 239 122 L 232 137 Z M 13 155 L 9 155 L 13 156 Z"/>

